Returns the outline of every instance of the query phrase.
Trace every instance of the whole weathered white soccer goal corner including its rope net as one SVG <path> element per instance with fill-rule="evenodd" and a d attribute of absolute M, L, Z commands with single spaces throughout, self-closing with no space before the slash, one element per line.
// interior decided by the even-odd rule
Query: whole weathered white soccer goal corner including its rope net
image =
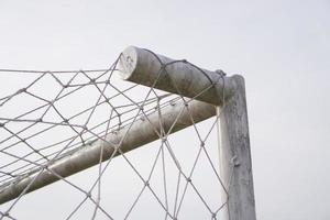
<path fill-rule="evenodd" d="M 0 72 L 0 220 L 255 220 L 242 76 L 134 46 Z"/>

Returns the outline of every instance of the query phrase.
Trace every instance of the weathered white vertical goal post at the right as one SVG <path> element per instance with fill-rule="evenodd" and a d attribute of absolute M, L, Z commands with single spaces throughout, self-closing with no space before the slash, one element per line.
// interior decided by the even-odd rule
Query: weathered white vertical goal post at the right
<path fill-rule="evenodd" d="M 220 131 L 220 176 L 227 187 L 228 204 L 223 217 L 229 220 L 255 220 L 249 123 L 244 79 L 232 76 L 237 89 L 234 96 L 221 109 L 217 109 Z"/>

